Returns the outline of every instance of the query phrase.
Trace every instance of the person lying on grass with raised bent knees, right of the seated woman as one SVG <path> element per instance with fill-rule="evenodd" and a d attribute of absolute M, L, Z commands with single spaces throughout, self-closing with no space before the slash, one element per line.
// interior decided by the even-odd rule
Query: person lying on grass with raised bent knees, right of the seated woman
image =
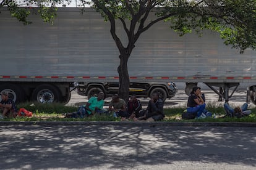
<path fill-rule="evenodd" d="M 224 103 L 224 110 L 226 115 L 230 117 L 241 118 L 242 116 L 247 116 L 252 113 L 251 110 L 247 110 L 248 104 L 244 103 L 241 107 L 232 108 L 228 103 Z"/>

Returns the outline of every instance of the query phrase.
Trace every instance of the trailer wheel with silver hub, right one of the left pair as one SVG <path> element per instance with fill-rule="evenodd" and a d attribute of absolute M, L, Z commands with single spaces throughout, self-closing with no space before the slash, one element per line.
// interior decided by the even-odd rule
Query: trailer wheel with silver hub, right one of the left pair
<path fill-rule="evenodd" d="M 38 103 L 60 102 L 60 92 L 51 84 L 41 84 L 36 87 L 32 94 L 32 100 Z"/>

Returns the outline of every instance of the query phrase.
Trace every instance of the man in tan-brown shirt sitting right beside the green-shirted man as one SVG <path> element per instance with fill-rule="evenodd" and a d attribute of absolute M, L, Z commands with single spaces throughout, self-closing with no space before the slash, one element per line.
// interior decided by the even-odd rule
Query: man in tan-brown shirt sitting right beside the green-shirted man
<path fill-rule="evenodd" d="M 129 118 L 126 111 L 126 102 L 123 99 L 119 99 L 118 94 L 114 94 L 112 100 L 109 102 L 109 111 L 113 111 L 113 116 L 115 118 Z"/>

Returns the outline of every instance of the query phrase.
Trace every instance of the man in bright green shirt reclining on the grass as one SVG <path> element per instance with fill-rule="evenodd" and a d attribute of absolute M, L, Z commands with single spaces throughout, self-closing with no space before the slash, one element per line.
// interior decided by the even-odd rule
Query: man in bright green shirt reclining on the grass
<path fill-rule="evenodd" d="M 104 106 L 104 93 L 99 92 L 98 97 L 91 97 L 86 105 L 79 107 L 79 109 L 73 113 L 67 113 L 65 118 L 84 118 L 88 116 L 92 116 L 95 113 L 105 112 L 103 110 Z"/>

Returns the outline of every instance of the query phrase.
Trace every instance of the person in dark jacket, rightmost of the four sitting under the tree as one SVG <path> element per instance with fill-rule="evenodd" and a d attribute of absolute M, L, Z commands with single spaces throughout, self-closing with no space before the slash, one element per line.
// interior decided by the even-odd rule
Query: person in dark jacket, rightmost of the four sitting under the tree
<path fill-rule="evenodd" d="M 134 118 L 134 121 L 153 122 L 164 119 L 163 105 L 164 102 L 160 99 L 159 94 L 156 92 L 153 93 L 151 95 L 151 100 L 148 102 L 147 110 L 143 112 L 143 116 Z"/>

